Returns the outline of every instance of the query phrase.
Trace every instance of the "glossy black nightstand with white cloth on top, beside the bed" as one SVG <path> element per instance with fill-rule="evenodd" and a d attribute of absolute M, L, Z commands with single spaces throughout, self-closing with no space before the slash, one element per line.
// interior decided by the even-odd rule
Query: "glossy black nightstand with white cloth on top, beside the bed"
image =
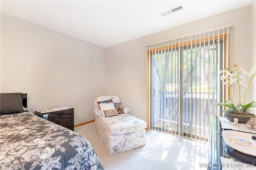
<path fill-rule="evenodd" d="M 36 110 L 34 114 L 74 131 L 74 108 L 72 107 L 41 109 Z"/>

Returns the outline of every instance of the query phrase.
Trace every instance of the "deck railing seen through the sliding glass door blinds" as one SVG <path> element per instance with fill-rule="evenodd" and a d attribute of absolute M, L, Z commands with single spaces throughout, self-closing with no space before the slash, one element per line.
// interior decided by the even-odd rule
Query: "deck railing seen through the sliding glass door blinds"
<path fill-rule="evenodd" d="M 158 119 L 169 121 L 178 120 L 178 92 L 159 91 L 158 104 L 154 110 L 158 110 L 158 116 L 154 116 L 154 122 Z M 213 114 L 216 103 L 214 93 L 183 93 L 183 121 L 188 123 L 200 123 L 208 125 L 208 117 Z"/>

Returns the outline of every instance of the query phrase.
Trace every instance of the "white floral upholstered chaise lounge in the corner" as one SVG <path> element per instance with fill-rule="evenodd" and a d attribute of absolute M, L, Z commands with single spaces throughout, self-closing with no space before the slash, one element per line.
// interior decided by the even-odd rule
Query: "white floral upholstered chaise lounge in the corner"
<path fill-rule="evenodd" d="M 116 114 L 113 106 L 120 106 L 118 96 L 100 96 L 94 101 L 95 127 L 108 154 L 118 154 L 145 145 L 146 122 L 127 114 L 127 107 L 123 109 L 124 114 Z M 109 112 L 113 116 L 109 116 Z"/>

